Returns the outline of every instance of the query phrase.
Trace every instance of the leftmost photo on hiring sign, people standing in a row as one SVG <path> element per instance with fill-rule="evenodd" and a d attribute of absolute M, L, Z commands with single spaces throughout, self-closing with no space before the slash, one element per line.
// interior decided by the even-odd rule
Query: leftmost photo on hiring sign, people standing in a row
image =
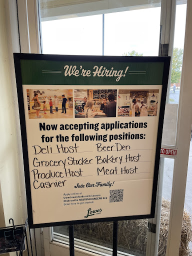
<path fill-rule="evenodd" d="M 72 89 L 26 89 L 28 117 L 72 118 Z"/>

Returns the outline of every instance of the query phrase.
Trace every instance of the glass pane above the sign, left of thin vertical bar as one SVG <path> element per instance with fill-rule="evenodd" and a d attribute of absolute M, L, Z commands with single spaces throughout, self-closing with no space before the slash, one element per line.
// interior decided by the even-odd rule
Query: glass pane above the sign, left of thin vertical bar
<path fill-rule="evenodd" d="M 44 54 L 102 55 L 101 14 L 41 21 L 41 31 Z"/>

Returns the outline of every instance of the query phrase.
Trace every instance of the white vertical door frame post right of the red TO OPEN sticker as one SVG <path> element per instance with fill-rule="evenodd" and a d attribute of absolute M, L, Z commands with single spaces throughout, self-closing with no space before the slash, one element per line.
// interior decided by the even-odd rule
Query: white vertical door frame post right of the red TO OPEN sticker
<path fill-rule="evenodd" d="M 188 153 L 192 124 L 191 90 L 191 60 L 192 60 L 192 1 L 187 1 L 186 30 L 182 62 L 181 86 L 178 108 L 179 127 L 177 129 L 176 144 L 178 145 L 177 157 L 174 161 L 172 196 L 170 205 L 169 231 L 167 238 L 166 256 L 178 255 L 186 176 L 188 167 Z M 186 103 L 187 102 L 187 103 Z M 187 109 L 187 111 L 186 111 Z M 183 154 L 185 152 L 185 154 Z"/>

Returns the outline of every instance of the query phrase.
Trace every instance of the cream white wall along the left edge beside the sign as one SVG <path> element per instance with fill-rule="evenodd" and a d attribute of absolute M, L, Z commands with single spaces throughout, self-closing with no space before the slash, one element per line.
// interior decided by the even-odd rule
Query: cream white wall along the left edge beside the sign
<path fill-rule="evenodd" d="M 15 116 L 17 105 L 13 101 L 11 70 L 13 63 L 12 55 L 9 54 L 11 43 L 8 41 L 6 0 L 0 0 L 0 185 L 2 196 L 2 207 L 4 212 L 4 223 L 9 218 L 14 219 L 14 224 L 22 224 L 22 205 L 20 196 L 20 180 L 18 168 L 18 143 L 16 133 Z M 13 60 L 12 60 L 13 61 Z M 10 71 L 11 70 L 11 71 Z M 17 121 L 15 120 L 17 119 Z M 0 198 L 1 199 L 1 198 Z"/>

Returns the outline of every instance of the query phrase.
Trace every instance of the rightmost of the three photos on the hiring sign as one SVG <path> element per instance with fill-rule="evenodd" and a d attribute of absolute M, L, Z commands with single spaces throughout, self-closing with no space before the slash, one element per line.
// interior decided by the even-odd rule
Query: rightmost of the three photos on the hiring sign
<path fill-rule="evenodd" d="M 118 116 L 156 116 L 158 89 L 118 90 Z"/>

